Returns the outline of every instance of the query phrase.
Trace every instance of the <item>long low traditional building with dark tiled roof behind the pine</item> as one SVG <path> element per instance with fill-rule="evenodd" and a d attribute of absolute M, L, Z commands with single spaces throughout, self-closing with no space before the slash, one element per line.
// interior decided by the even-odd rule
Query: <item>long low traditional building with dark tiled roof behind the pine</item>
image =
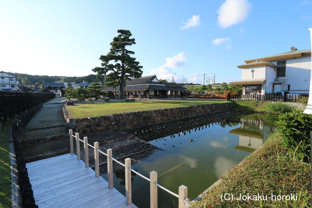
<path fill-rule="evenodd" d="M 102 91 L 119 96 L 119 87 L 104 87 Z M 133 97 L 178 97 L 185 92 L 185 88 L 175 83 L 161 82 L 156 75 L 142 76 L 126 81 L 124 95 Z"/>

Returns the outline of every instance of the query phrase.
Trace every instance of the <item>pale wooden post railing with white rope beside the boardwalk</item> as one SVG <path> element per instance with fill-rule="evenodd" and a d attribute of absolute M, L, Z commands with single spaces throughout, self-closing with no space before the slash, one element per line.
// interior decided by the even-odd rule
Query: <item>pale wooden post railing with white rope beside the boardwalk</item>
<path fill-rule="evenodd" d="M 145 180 L 150 182 L 150 207 L 151 208 L 157 208 L 157 187 L 160 189 L 163 189 L 167 191 L 168 193 L 176 196 L 178 198 L 178 204 L 179 208 L 184 208 L 185 206 L 189 205 L 189 199 L 187 198 L 187 187 L 184 185 L 181 185 L 179 187 L 179 194 L 176 194 L 172 192 L 171 190 L 168 190 L 164 188 L 163 186 L 159 185 L 157 183 L 157 172 L 151 171 L 150 172 L 150 178 L 145 177 L 144 175 L 138 173 L 136 170 L 133 170 L 131 168 L 131 159 L 126 158 L 125 164 L 119 162 L 116 160 L 112 155 L 112 149 L 107 149 L 107 152 L 104 153 L 98 149 L 98 142 L 94 143 L 94 146 L 90 145 L 88 143 L 88 137 L 83 137 L 83 140 L 79 138 L 79 133 L 73 134 L 73 130 L 69 130 L 69 141 L 70 141 L 70 153 L 74 154 L 74 141 L 73 137 L 76 138 L 76 155 L 77 160 L 80 160 L 80 142 L 83 143 L 84 148 L 84 162 L 85 167 L 89 167 L 89 147 L 94 149 L 94 164 L 95 164 L 95 176 L 99 176 L 99 153 L 104 154 L 107 156 L 107 181 L 108 181 L 108 188 L 113 189 L 114 183 L 113 183 L 113 161 L 117 162 L 119 165 L 125 167 L 125 188 L 126 188 L 126 204 L 131 205 L 132 204 L 132 192 L 131 192 L 131 171 L 139 175 L 140 177 L 144 178 Z"/>

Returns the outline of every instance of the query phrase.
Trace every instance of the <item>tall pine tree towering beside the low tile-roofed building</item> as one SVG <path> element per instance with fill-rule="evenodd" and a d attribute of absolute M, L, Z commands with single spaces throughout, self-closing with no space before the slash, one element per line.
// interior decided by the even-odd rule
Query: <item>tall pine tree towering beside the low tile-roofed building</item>
<path fill-rule="evenodd" d="M 126 80 L 139 78 L 143 72 L 136 58 L 130 56 L 135 52 L 126 49 L 127 46 L 136 44 L 135 38 L 130 38 L 132 34 L 129 30 L 117 30 L 117 33 L 119 35 L 113 38 L 110 44 L 110 52 L 106 56 L 99 57 L 102 67 L 96 67 L 92 71 L 98 73 L 97 78 L 106 75 L 106 86 L 113 88 L 119 86 L 119 98 L 123 99 Z"/>

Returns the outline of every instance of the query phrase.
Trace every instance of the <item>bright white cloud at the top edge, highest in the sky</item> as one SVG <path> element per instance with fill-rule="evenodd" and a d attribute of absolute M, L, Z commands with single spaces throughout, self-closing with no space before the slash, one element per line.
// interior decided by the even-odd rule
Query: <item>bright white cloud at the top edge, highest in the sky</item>
<path fill-rule="evenodd" d="M 248 0 L 226 0 L 218 9 L 218 23 L 222 28 L 230 27 L 246 19 L 251 10 Z"/>

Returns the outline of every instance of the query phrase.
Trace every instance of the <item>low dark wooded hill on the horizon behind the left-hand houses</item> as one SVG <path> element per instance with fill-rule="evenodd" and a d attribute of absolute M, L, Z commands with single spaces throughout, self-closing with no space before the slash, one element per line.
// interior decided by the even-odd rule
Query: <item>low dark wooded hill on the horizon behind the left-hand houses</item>
<path fill-rule="evenodd" d="M 99 82 L 100 80 L 97 79 L 96 75 L 88 75 L 88 76 L 47 76 L 47 75 L 27 75 L 27 74 L 19 74 L 8 72 L 14 76 L 21 76 L 23 78 L 28 78 L 32 84 L 38 82 L 38 84 L 42 84 L 42 82 L 55 82 L 55 81 L 62 81 L 62 82 L 75 82 L 80 83 L 83 81 L 87 82 Z M 103 81 L 103 80 L 101 80 Z M 30 83 L 29 83 L 30 84 Z"/>

